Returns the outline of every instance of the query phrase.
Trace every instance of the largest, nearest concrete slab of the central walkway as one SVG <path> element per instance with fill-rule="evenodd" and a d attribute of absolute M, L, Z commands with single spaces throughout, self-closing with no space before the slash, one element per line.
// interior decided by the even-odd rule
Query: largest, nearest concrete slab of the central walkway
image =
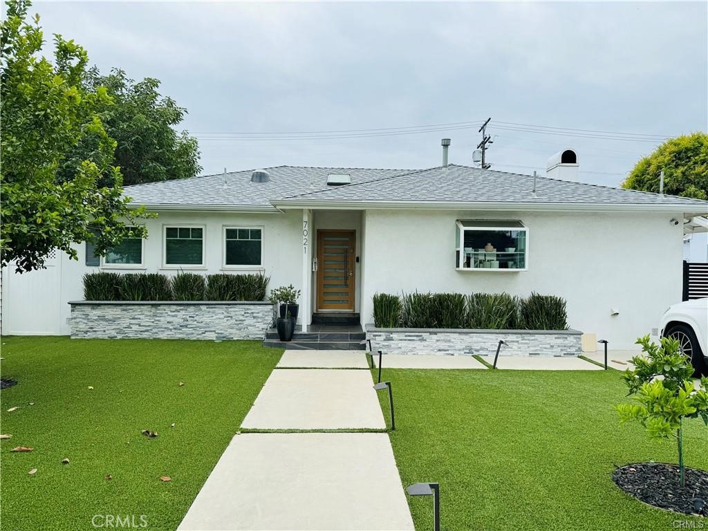
<path fill-rule="evenodd" d="M 412 531 L 413 521 L 386 433 L 244 433 L 178 530 Z"/>

